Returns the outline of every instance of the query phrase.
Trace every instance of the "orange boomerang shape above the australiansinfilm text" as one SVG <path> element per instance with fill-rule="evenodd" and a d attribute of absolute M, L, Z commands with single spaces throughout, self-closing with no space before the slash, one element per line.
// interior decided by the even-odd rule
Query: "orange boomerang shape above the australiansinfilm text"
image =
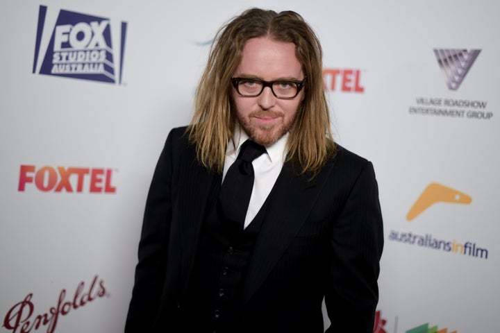
<path fill-rule="evenodd" d="M 434 203 L 469 204 L 472 203 L 472 198 L 465 193 L 457 191 L 456 189 L 451 189 L 450 187 L 437 184 L 437 182 L 431 182 L 431 184 L 424 189 L 422 194 L 420 194 L 408 214 L 406 214 L 406 219 L 408 221 L 415 219 L 415 217 L 424 212 L 424 210 Z"/>

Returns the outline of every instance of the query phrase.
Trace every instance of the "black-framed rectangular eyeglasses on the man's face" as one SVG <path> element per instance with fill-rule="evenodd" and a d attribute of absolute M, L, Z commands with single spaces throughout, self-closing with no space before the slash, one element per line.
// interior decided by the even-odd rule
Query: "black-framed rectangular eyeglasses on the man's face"
<path fill-rule="evenodd" d="M 271 88 L 272 93 L 278 99 L 293 99 L 304 87 L 306 78 L 303 80 L 275 80 L 265 81 L 258 78 L 231 78 L 231 83 L 236 92 L 245 97 L 256 97 L 262 94 L 265 87 Z"/>

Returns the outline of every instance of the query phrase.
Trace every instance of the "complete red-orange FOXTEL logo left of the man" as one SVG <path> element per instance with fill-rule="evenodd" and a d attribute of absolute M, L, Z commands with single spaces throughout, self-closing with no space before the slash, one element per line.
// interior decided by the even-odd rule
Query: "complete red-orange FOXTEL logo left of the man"
<path fill-rule="evenodd" d="M 35 185 L 42 192 L 116 193 L 112 184 L 113 169 L 49 167 L 37 168 L 22 165 L 19 169 L 17 191 L 26 191 L 26 186 Z"/>

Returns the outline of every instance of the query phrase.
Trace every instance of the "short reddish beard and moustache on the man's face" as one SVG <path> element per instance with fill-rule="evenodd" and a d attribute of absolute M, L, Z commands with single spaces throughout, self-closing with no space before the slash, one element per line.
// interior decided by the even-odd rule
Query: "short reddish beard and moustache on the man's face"
<path fill-rule="evenodd" d="M 238 123 L 243 128 L 244 132 L 258 144 L 263 146 L 271 146 L 276 143 L 283 135 L 285 135 L 290 128 L 292 128 L 295 119 L 297 118 L 297 112 L 291 115 L 287 121 L 283 123 L 274 123 L 269 125 L 260 125 L 256 123 L 251 123 L 253 117 L 278 117 L 285 119 L 283 113 L 281 112 L 271 112 L 271 111 L 257 111 L 249 114 L 248 117 L 243 117 L 239 112 L 235 112 L 238 119 Z"/>

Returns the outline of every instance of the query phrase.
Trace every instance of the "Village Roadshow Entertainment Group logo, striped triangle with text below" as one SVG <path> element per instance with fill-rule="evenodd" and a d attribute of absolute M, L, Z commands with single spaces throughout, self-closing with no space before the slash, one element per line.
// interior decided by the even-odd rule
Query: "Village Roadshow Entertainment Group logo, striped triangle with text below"
<path fill-rule="evenodd" d="M 434 49 L 437 66 L 451 92 L 458 91 L 479 53 L 479 49 Z M 486 121 L 493 117 L 493 112 L 487 110 L 487 101 L 462 97 L 417 96 L 409 112 L 413 115 Z"/>

